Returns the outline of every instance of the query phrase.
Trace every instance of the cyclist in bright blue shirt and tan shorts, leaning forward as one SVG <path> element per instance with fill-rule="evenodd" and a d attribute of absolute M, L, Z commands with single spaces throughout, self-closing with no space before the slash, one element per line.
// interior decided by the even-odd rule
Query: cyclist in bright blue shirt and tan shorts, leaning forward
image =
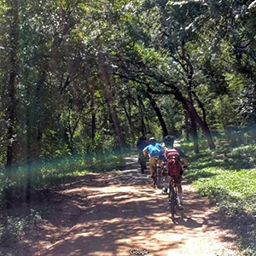
<path fill-rule="evenodd" d="M 143 148 L 143 155 L 149 156 L 149 172 L 150 177 L 154 178 L 154 166 L 156 164 L 155 158 L 160 156 L 160 154 L 163 154 L 163 148 L 160 143 L 156 143 L 156 139 L 154 137 L 150 137 L 149 145 L 145 148 Z M 160 164 L 160 162 L 159 162 Z"/>

